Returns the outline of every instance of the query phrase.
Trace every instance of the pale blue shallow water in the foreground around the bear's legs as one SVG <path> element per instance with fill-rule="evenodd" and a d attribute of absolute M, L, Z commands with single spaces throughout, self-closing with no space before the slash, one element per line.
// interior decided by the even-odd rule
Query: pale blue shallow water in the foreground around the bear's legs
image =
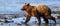
<path fill-rule="evenodd" d="M 26 17 L 13 18 L 14 22 L 3 23 L 0 22 L 0 26 L 60 26 L 60 19 L 56 19 L 57 23 L 54 24 L 52 20 L 49 20 L 49 24 L 45 24 L 41 18 L 41 24 L 38 24 L 38 21 L 35 17 L 32 17 L 27 24 L 24 24 Z"/>

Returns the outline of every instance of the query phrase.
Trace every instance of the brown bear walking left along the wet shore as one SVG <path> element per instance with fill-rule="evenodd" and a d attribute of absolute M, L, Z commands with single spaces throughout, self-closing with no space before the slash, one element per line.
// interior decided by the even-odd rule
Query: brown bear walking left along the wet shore
<path fill-rule="evenodd" d="M 46 5 L 32 6 L 29 3 L 25 3 L 21 10 L 27 12 L 25 23 L 30 20 L 31 16 L 35 16 L 39 23 L 41 23 L 41 16 L 44 18 L 46 23 L 48 23 L 48 19 L 52 19 L 56 23 L 55 18 L 51 16 L 51 9 Z"/>

